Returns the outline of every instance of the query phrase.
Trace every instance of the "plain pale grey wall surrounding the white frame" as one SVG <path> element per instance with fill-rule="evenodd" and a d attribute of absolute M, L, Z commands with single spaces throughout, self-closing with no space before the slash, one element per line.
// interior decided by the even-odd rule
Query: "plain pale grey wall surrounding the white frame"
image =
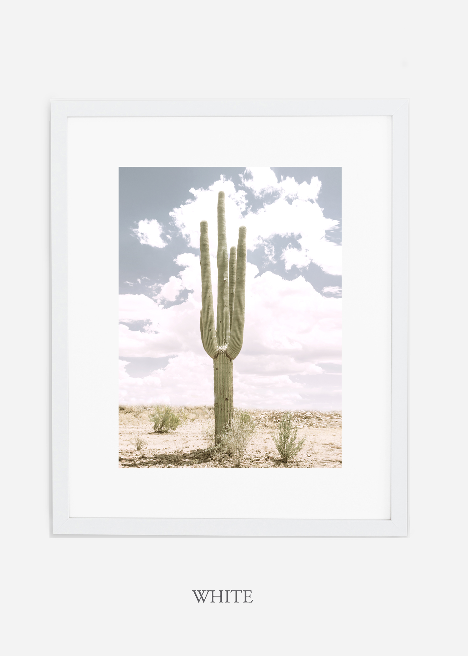
<path fill-rule="evenodd" d="M 5 653 L 463 653 L 463 4 L 5 5 Z M 411 101 L 410 537 L 50 537 L 49 99 L 298 96 Z M 190 592 L 228 586 L 254 603 Z"/>

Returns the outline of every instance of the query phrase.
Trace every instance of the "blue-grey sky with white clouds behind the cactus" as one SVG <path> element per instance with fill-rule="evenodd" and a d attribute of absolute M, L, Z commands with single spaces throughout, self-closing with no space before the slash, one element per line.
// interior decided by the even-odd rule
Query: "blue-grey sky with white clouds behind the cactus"
<path fill-rule="evenodd" d="M 247 228 L 237 407 L 341 407 L 341 169 L 119 169 L 121 403 L 213 403 L 200 338 L 200 221 L 216 312 L 218 192 L 227 247 Z"/>

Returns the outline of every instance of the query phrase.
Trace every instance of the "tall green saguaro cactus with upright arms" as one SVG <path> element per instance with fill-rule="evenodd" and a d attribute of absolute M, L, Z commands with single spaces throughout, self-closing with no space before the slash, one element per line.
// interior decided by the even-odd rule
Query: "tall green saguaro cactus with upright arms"
<path fill-rule="evenodd" d="M 200 224 L 201 304 L 200 333 L 203 348 L 214 365 L 214 434 L 216 443 L 230 424 L 233 405 L 233 360 L 244 338 L 246 228 L 239 228 L 237 251 L 228 259 L 224 192 L 218 194 L 218 307 L 214 323 L 208 222 Z"/>

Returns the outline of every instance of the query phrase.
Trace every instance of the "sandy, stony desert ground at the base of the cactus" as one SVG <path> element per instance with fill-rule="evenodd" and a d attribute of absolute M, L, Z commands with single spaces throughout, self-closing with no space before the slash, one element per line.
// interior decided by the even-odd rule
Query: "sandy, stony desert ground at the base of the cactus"
<path fill-rule="evenodd" d="M 168 434 L 154 432 L 151 408 L 119 406 L 119 467 L 232 467 L 225 453 L 214 449 L 206 437 L 214 427 L 210 406 L 174 407 L 183 423 Z M 273 443 L 277 423 L 284 411 L 250 410 L 257 427 L 246 447 L 243 467 L 341 467 L 341 412 L 313 410 L 294 412 L 302 450 L 284 463 Z M 136 438 L 146 444 L 138 451 Z"/>

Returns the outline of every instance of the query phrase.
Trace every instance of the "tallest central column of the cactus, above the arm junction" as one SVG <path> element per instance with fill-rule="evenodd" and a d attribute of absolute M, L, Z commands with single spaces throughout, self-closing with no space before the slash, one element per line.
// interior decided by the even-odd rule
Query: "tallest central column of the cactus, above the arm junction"
<path fill-rule="evenodd" d="M 216 308 L 216 338 L 220 349 L 225 350 L 231 330 L 229 328 L 229 274 L 226 242 L 224 192 L 218 194 L 218 307 Z"/>

